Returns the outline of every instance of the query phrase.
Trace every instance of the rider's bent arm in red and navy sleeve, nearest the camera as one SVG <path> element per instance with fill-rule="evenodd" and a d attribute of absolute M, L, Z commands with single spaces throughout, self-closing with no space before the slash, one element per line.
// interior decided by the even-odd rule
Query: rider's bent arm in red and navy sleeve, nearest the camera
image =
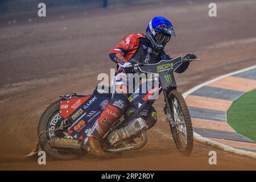
<path fill-rule="evenodd" d="M 125 59 L 125 55 L 127 52 L 138 48 L 138 41 L 134 34 L 127 35 L 122 42 L 110 50 L 110 59 L 118 64 L 119 67 L 126 67 L 126 65 L 130 63 Z"/>

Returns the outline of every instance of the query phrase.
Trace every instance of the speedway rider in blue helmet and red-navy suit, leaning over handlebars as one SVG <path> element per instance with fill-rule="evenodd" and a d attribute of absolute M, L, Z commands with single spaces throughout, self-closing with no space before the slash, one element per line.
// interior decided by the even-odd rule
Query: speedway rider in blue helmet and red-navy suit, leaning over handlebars
<path fill-rule="evenodd" d="M 128 73 L 133 73 L 133 64 L 139 63 L 157 63 L 160 60 L 172 59 L 166 52 L 164 47 L 170 41 L 171 36 L 175 36 L 172 23 L 162 17 L 156 16 L 147 26 L 146 35 L 130 34 L 127 35 L 122 42 L 115 46 L 109 52 L 110 59 L 117 64 L 117 71 L 114 77 L 114 93 L 109 105 L 101 113 L 89 134 L 86 145 L 90 148 L 92 154 L 97 156 L 105 156 L 102 150 L 100 140 L 108 132 L 112 124 L 125 111 L 128 98 Z M 193 54 L 187 54 L 187 59 L 196 59 Z M 175 72 L 183 73 L 188 68 L 189 63 L 183 63 Z M 155 125 L 157 121 L 156 110 L 151 106 L 144 118 L 148 129 Z"/>

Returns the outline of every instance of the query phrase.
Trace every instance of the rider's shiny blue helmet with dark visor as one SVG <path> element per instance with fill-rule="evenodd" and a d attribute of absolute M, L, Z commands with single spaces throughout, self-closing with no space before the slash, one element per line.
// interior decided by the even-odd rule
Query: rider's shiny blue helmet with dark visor
<path fill-rule="evenodd" d="M 171 36 L 175 36 L 172 23 L 163 16 L 155 16 L 147 26 L 146 36 L 152 44 L 154 51 L 163 51 Z"/>

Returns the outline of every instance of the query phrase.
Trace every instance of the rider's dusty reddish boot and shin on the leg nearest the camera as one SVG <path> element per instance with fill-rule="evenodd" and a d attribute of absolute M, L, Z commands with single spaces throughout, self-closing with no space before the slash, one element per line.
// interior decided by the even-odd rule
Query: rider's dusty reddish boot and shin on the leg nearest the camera
<path fill-rule="evenodd" d="M 112 124 L 120 115 L 121 113 L 119 110 L 112 105 L 108 105 L 101 113 L 100 118 L 97 119 L 96 125 L 94 125 L 88 137 L 87 146 L 90 148 L 93 155 L 100 157 L 104 157 L 106 155 L 102 150 L 101 139 L 109 131 Z"/>

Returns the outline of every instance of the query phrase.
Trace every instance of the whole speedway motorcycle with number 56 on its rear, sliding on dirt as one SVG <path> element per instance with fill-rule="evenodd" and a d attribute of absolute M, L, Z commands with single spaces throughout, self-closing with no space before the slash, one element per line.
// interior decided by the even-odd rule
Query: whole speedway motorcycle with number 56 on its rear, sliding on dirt
<path fill-rule="evenodd" d="M 148 126 L 143 119 L 142 111 L 148 110 L 157 99 L 152 99 L 155 92 L 163 92 L 164 114 L 167 115 L 177 150 L 181 155 L 190 155 L 193 149 L 192 123 L 185 100 L 176 89 L 174 71 L 184 61 L 196 60 L 200 59 L 183 59 L 179 56 L 156 64 L 135 64 L 134 69 L 137 73 L 157 75 L 158 85 L 146 93 L 137 93 L 138 90 L 135 89 L 134 93 L 129 94 L 124 114 L 101 140 L 103 150 L 119 153 L 144 147 L 147 143 Z M 112 97 L 110 92 L 106 93 L 104 90 L 97 86 L 90 95 L 81 96 L 73 93 L 60 96 L 60 100 L 49 105 L 38 124 L 35 148 L 27 156 L 36 155 L 40 147 L 49 157 L 57 160 L 72 160 L 87 154 L 89 148 L 84 143 Z"/>

